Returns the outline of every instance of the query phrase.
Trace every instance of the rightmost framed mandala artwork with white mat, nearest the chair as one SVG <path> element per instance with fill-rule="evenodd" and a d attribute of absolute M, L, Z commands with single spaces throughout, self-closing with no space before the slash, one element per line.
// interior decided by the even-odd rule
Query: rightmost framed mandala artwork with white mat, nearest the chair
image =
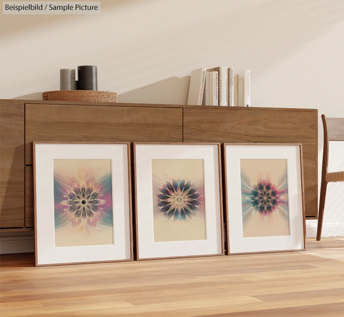
<path fill-rule="evenodd" d="M 228 254 L 305 250 L 301 144 L 224 144 Z"/>

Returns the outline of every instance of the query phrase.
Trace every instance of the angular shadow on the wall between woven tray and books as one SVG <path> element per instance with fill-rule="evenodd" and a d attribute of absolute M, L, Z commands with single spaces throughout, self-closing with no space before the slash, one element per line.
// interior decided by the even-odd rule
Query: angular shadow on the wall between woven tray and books
<path fill-rule="evenodd" d="M 118 102 L 186 105 L 190 76 L 170 77 L 118 95 Z"/>

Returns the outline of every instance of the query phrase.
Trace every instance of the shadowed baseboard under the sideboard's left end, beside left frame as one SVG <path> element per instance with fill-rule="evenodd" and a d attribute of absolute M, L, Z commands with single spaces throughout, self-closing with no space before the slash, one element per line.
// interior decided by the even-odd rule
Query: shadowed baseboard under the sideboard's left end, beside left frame
<path fill-rule="evenodd" d="M 0 254 L 29 253 L 34 251 L 34 237 L 23 236 L 0 236 Z"/>

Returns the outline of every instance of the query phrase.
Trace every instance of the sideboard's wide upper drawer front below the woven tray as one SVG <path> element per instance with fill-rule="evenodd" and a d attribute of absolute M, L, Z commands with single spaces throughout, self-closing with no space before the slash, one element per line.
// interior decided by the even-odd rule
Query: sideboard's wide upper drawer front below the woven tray
<path fill-rule="evenodd" d="M 26 164 L 33 141 L 182 142 L 181 108 L 26 104 Z"/>

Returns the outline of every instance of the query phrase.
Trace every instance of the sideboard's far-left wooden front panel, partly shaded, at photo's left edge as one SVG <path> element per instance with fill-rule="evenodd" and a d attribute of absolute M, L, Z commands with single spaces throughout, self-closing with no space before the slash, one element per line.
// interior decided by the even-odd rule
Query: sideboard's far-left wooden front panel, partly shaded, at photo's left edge
<path fill-rule="evenodd" d="M 0 228 L 24 227 L 24 104 L 0 104 Z"/>

